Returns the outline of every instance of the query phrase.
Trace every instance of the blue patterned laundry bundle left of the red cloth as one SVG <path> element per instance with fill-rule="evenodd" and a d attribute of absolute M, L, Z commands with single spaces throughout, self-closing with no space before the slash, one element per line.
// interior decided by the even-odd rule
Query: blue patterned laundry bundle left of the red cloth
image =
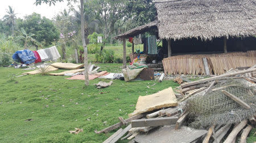
<path fill-rule="evenodd" d="M 15 62 L 31 64 L 35 62 L 35 54 L 31 50 L 19 50 L 13 54 Z"/>

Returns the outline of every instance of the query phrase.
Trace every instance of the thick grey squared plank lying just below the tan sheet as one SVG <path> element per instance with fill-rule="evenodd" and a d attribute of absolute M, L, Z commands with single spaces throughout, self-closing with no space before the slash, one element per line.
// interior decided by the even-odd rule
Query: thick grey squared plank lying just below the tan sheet
<path fill-rule="evenodd" d="M 166 118 L 153 118 L 153 119 L 139 119 L 131 121 L 131 127 L 154 127 L 159 125 L 171 125 L 175 124 L 177 117 L 166 117 Z"/>

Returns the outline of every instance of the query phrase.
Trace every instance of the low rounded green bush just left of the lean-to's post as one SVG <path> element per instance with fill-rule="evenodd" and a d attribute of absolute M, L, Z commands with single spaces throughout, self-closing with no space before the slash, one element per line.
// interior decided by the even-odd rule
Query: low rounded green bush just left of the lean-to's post
<path fill-rule="evenodd" d="M 113 63 L 114 54 L 115 54 L 115 52 L 113 50 L 105 50 L 104 49 L 102 52 L 98 51 L 98 53 L 95 54 L 96 62 Z"/>

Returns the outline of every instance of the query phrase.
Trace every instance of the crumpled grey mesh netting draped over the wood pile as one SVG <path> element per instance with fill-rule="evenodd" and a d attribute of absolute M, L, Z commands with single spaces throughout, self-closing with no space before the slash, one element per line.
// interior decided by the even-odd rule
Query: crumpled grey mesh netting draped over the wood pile
<path fill-rule="evenodd" d="M 221 90 L 233 94 L 246 102 L 251 109 L 245 109 L 226 96 Z M 222 80 L 205 95 L 199 93 L 188 99 L 189 125 L 194 128 L 207 128 L 210 125 L 241 122 L 255 114 L 256 88 L 245 80 Z"/>

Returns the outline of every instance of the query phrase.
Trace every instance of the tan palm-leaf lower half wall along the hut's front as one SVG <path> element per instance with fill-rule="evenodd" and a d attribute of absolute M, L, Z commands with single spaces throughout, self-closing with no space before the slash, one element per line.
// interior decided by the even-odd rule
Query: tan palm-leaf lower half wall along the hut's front
<path fill-rule="evenodd" d="M 164 73 L 170 75 L 221 75 L 230 68 L 256 64 L 256 51 L 208 55 L 177 55 L 162 60 Z"/>

